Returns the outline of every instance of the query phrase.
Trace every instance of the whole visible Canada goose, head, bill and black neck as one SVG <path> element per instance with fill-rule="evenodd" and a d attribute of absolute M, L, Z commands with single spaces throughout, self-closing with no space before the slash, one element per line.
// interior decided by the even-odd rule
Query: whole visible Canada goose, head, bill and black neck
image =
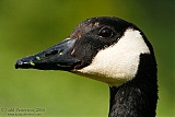
<path fill-rule="evenodd" d="M 109 85 L 109 117 L 154 117 L 156 61 L 135 24 L 101 16 L 82 22 L 63 42 L 21 58 L 15 68 L 65 70 Z"/>

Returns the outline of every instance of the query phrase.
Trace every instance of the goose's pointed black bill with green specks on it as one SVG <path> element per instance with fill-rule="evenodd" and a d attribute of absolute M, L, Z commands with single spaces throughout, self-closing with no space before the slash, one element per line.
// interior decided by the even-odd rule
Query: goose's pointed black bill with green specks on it
<path fill-rule="evenodd" d="M 21 58 L 15 69 L 66 70 L 71 71 L 80 60 L 73 58 L 71 52 L 77 38 L 63 42 L 33 56 Z"/>

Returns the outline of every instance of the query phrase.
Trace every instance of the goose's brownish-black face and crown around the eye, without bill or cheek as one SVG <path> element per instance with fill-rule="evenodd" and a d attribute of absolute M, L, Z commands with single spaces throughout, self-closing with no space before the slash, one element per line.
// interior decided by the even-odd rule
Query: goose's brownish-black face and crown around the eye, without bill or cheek
<path fill-rule="evenodd" d="M 72 55 L 82 62 L 75 68 L 89 66 L 100 50 L 116 44 L 127 28 L 137 27 L 121 19 L 108 16 L 88 19 L 78 25 L 70 35 L 70 38 L 79 38 Z"/>

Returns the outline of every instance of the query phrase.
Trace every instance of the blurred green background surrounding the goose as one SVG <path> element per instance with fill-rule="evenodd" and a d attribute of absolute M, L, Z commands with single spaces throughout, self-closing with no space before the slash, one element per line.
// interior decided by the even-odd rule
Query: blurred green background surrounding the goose
<path fill-rule="evenodd" d="M 19 58 L 59 43 L 81 21 L 102 15 L 130 21 L 148 36 L 159 67 L 156 117 L 175 117 L 174 4 L 174 0 L 0 0 L 0 117 L 11 113 L 4 108 L 37 107 L 45 109 L 44 117 L 107 117 L 107 84 L 63 71 L 14 69 Z"/>

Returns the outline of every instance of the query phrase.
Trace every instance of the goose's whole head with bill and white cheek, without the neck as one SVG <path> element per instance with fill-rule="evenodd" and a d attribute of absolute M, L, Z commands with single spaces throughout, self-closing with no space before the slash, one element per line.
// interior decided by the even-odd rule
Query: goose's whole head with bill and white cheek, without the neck
<path fill-rule="evenodd" d="M 138 73 L 141 55 L 153 56 L 153 50 L 135 24 L 102 16 L 83 21 L 61 43 L 19 59 L 15 68 L 65 70 L 121 85 Z"/>

